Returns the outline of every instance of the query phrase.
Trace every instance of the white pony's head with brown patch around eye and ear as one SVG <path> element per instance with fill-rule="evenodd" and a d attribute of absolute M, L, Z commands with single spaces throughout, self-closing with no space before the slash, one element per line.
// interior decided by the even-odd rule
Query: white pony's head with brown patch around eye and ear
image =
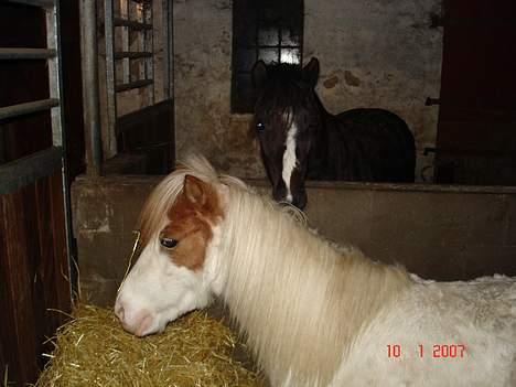
<path fill-rule="evenodd" d="M 142 250 L 115 304 L 122 326 L 138 336 L 206 307 L 216 292 L 212 247 L 227 185 L 204 159 L 193 158 L 190 164 L 166 176 L 143 206 Z"/>

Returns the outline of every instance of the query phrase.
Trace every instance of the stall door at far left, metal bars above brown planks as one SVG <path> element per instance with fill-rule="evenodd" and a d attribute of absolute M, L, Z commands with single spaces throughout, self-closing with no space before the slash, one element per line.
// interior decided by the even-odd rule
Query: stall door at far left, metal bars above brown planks
<path fill-rule="evenodd" d="M 46 54 L 45 18 L 42 8 L 0 2 L 0 376 L 7 386 L 36 380 L 42 354 L 52 351 L 45 342 L 71 310 L 64 147 L 49 108 L 12 114 L 41 100 L 61 108 L 50 93 L 56 50 Z"/>

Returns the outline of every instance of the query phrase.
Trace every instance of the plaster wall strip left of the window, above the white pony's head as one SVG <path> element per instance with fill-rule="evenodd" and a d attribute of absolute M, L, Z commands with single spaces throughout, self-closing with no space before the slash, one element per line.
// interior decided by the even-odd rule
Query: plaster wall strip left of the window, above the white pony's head
<path fill-rule="evenodd" d="M 230 115 L 232 1 L 174 1 L 178 157 L 202 152 L 217 168 L 262 176 L 250 116 Z"/>

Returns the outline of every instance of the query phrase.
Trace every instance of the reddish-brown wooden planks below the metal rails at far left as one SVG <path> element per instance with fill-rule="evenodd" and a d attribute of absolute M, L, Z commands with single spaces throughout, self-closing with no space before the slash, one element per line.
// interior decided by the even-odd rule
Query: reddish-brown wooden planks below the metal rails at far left
<path fill-rule="evenodd" d="M 0 357 L 9 380 L 35 381 L 43 344 L 71 310 L 61 172 L 0 195 Z"/>

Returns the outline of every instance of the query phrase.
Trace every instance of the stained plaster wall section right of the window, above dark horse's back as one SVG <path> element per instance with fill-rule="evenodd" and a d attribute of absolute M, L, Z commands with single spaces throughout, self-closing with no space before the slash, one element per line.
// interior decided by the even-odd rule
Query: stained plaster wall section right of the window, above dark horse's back
<path fill-rule="evenodd" d="M 321 9 L 320 1 L 305 1 L 304 58 L 321 61 L 321 99 L 334 114 L 354 107 L 398 114 L 415 135 L 420 178 L 432 163 L 423 148 L 437 133 L 438 107 L 424 101 L 440 93 L 442 29 L 431 29 L 430 17 L 441 12 L 441 1 L 325 0 Z"/>

